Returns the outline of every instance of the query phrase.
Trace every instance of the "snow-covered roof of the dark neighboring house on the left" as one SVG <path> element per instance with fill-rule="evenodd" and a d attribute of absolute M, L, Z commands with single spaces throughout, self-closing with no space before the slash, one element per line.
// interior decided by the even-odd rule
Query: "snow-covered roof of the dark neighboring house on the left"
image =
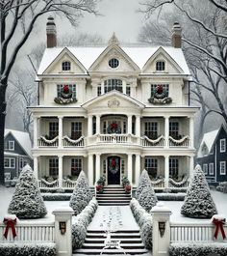
<path fill-rule="evenodd" d="M 8 134 L 12 133 L 13 137 L 17 140 L 17 142 L 20 144 L 20 146 L 24 149 L 24 151 L 33 158 L 32 156 L 32 143 L 29 137 L 28 132 L 15 130 L 15 129 L 9 129 L 5 128 L 5 134 L 6 137 Z"/>

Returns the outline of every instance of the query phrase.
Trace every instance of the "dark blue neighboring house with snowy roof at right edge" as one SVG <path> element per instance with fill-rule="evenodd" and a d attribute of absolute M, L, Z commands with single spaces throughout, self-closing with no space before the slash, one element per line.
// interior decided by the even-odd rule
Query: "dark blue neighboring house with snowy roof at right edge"
<path fill-rule="evenodd" d="M 204 134 L 197 154 L 197 163 L 202 166 L 211 185 L 227 182 L 227 131 L 219 129 Z"/>

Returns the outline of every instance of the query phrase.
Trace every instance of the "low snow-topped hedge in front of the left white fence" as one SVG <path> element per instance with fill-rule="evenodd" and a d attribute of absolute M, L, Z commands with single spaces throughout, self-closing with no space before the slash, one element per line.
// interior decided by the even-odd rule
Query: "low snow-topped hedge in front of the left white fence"
<path fill-rule="evenodd" d="M 45 243 L 1 243 L 1 256 L 56 256 L 56 244 L 53 242 Z"/>

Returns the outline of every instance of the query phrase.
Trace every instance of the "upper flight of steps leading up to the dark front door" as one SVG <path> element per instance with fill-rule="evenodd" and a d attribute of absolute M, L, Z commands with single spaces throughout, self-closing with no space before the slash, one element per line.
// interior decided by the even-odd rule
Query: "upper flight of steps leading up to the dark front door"
<path fill-rule="evenodd" d="M 131 194 L 125 193 L 122 186 L 104 186 L 103 193 L 96 193 L 99 206 L 128 206 Z"/>

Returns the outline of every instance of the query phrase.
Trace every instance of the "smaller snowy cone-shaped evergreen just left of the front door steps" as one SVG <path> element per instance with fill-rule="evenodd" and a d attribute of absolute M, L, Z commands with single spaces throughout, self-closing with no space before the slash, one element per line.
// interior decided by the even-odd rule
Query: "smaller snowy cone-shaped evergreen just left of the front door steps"
<path fill-rule="evenodd" d="M 91 198 L 92 194 L 89 191 L 88 179 L 85 172 L 81 171 L 70 198 L 69 206 L 73 209 L 75 215 L 77 215 L 86 208 Z"/>

